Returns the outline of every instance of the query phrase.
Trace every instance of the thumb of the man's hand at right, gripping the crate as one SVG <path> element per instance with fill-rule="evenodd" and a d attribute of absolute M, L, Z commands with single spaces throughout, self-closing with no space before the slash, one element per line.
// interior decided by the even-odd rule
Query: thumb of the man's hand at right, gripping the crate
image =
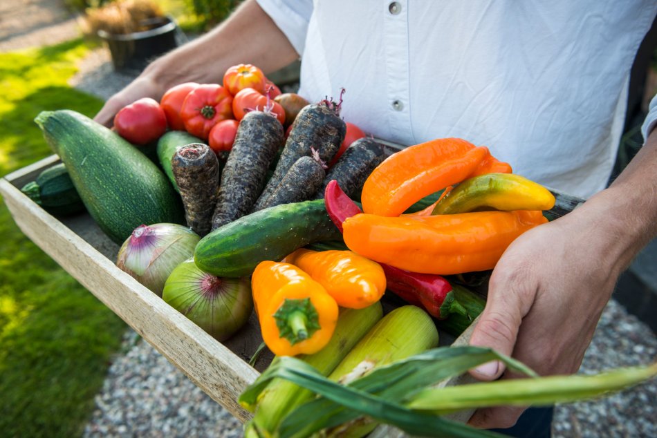
<path fill-rule="evenodd" d="M 479 318 L 470 336 L 470 345 L 490 347 L 501 354 L 510 356 L 513 352 L 522 318 L 507 303 L 500 303 L 489 295 L 485 310 Z M 494 380 L 504 372 L 500 361 L 483 363 L 470 370 L 470 374 L 479 380 Z"/>

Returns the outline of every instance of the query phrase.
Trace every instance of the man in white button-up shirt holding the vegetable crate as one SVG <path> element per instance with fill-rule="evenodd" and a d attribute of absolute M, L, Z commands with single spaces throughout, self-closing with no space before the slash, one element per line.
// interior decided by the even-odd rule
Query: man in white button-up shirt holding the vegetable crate
<path fill-rule="evenodd" d="M 657 235 L 657 98 L 645 145 L 606 187 L 631 64 L 656 14 L 654 0 L 247 0 L 154 61 L 95 120 L 111 124 L 122 106 L 182 82 L 221 83 L 234 64 L 268 73 L 301 56 L 299 94 L 317 102 L 344 87 L 344 119 L 376 137 L 489 146 L 515 173 L 586 202 L 508 247 L 471 343 L 570 374 L 618 276 Z M 471 372 L 512 377 L 498 362 Z M 470 424 L 510 428 L 521 412 L 481 409 Z"/>

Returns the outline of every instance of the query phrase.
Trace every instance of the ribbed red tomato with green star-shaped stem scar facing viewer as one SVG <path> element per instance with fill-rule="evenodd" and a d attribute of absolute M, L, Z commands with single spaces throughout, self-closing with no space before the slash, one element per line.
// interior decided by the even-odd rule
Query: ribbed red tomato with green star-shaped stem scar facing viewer
<path fill-rule="evenodd" d="M 185 97 L 181 118 L 188 133 L 207 140 L 212 126 L 232 119 L 232 96 L 221 85 L 199 85 Z"/>

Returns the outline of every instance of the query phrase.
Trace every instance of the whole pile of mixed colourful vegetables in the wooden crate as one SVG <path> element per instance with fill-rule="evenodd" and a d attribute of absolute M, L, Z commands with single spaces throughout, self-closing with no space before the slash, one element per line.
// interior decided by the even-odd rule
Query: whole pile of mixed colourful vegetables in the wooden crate
<path fill-rule="evenodd" d="M 547 222 L 555 197 L 466 140 L 389 154 L 342 120 L 343 93 L 310 104 L 240 64 L 222 84 L 133 102 L 115 131 L 44 112 L 35 121 L 62 164 L 24 192 L 53 214 L 84 206 L 122 244 L 118 267 L 219 341 L 255 310 L 276 358 L 240 397 L 255 412 L 248 437 L 356 437 L 377 423 L 490 436 L 439 415 L 589 397 L 656 374 L 539 378 L 490 350 L 436 349 L 436 327 L 458 336 L 483 311 L 484 296 L 459 283 Z M 382 299 L 396 307 L 385 316 Z M 534 378 L 468 397 L 434 388 L 492 359 Z"/>

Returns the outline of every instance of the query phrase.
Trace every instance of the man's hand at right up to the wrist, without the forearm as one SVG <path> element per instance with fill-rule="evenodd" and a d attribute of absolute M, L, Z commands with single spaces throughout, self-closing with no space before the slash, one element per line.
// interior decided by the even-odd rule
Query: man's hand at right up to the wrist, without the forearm
<path fill-rule="evenodd" d="M 600 238 L 600 224 L 571 214 L 526 232 L 507 249 L 490 278 L 472 345 L 512 355 L 541 375 L 577 371 L 622 267 Z M 503 371 L 496 361 L 472 374 L 491 380 Z M 481 409 L 470 424 L 508 428 L 522 411 Z"/>

